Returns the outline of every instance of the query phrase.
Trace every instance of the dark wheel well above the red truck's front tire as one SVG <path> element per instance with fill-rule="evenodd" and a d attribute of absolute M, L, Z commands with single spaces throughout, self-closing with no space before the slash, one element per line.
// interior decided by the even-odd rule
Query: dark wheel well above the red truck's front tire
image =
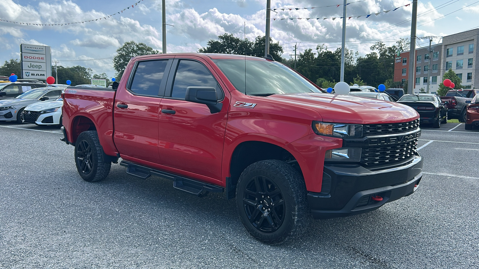
<path fill-rule="evenodd" d="M 303 175 L 295 157 L 284 148 L 266 142 L 247 141 L 239 144 L 233 151 L 229 168 L 231 184 L 238 183 L 239 176 L 249 165 L 271 159 L 285 161 Z"/>

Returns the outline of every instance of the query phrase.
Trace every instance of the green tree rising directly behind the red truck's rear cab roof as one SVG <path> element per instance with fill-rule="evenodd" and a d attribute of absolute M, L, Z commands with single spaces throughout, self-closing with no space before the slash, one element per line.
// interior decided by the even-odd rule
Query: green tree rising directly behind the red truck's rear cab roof
<path fill-rule="evenodd" d="M 136 43 L 135 41 L 126 42 L 116 50 L 116 56 L 113 58 L 113 67 L 116 70 L 115 77 L 119 81 L 125 72 L 126 65 L 132 57 L 159 54 L 158 50 L 144 43 Z"/>

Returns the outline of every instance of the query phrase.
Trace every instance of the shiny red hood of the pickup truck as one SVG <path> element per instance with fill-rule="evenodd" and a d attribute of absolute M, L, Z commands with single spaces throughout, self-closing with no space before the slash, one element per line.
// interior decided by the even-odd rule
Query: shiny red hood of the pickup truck
<path fill-rule="evenodd" d="M 414 109 L 406 105 L 349 94 L 295 93 L 268 98 L 314 109 L 323 122 L 330 123 L 398 123 L 419 117 Z"/>

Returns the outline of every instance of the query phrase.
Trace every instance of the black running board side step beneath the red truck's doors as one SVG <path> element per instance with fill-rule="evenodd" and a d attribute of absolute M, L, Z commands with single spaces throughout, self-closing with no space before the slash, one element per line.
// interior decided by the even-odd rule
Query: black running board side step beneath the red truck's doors
<path fill-rule="evenodd" d="M 126 173 L 140 179 L 147 179 L 154 175 L 165 179 L 173 180 L 173 187 L 199 197 L 205 196 L 208 192 L 223 192 L 225 189 L 213 184 L 204 183 L 194 179 L 187 179 L 181 176 L 173 175 L 168 172 L 137 165 L 128 161 L 121 161 L 121 166 L 126 167 Z"/>

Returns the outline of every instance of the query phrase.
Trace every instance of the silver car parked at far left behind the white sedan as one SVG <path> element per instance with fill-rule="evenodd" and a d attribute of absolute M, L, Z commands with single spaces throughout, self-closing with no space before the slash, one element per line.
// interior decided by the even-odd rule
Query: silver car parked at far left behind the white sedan
<path fill-rule="evenodd" d="M 22 123 L 20 115 L 23 109 L 30 104 L 55 100 L 60 97 L 63 88 L 36 88 L 24 92 L 15 98 L 0 100 L 0 121 L 17 121 Z"/>

